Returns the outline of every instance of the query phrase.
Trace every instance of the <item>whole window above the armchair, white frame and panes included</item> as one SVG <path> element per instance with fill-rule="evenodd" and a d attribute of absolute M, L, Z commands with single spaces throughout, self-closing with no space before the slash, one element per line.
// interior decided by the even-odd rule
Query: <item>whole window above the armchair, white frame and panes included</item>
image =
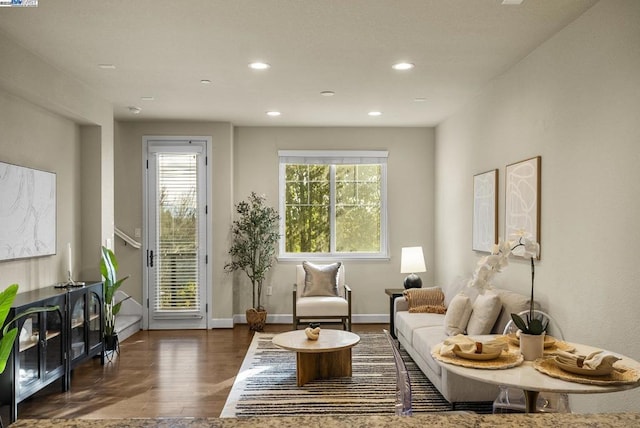
<path fill-rule="evenodd" d="M 387 257 L 387 152 L 278 155 L 281 258 Z"/>

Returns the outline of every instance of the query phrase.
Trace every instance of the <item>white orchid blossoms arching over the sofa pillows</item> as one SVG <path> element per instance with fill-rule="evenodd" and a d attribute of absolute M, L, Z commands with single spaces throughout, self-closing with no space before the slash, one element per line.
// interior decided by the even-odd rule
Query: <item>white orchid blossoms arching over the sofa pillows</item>
<path fill-rule="evenodd" d="M 468 286 L 474 287 L 484 294 L 486 290 L 492 288 L 491 280 L 498 272 L 502 272 L 509 265 L 509 256 L 513 253 L 516 256 L 526 259 L 538 257 L 540 245 L 529 239 L 528 234 L 519 231 L 514 241 L 502 241 L 493 246 L 491 254 L 478 261 L 473 278 Z"/>

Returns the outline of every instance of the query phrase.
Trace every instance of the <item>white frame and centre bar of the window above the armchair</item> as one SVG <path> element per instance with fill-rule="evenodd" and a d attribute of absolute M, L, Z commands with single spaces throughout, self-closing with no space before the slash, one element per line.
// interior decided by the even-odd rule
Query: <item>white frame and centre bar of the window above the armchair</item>
<path fill-rule="evenodd" d="M 280 209 L 280 239 L 278 260 L 321 260 L 321 259 L 389 259 L 388 228 L 387 228 L 387 158 L 389 152 L 382 150 L 279 150 L 279 209 Z M 314 164 L 314 165 L 358 165 L 378 164 L 381 166 L 380 183 L 380 251 L 375 253 L 288 253 L 285 244 L 286 201 L 285 169 L 287 164 Z M 333 169 L 332 169 L 333 170 Z M 335 220 L 335 177 L 331 177 L 331 221 Z M 335 224 L 331 225 L 331 248 L 335 249 Z"/>

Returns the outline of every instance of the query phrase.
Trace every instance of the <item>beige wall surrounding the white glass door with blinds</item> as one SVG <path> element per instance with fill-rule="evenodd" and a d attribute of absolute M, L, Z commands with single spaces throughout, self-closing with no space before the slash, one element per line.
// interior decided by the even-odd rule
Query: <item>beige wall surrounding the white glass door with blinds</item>
<path fill-rule="evenodd" d="M 130 236 L 136 228 L 143 228 L 143 170 L 142 139 L 145 135 L 210 136 L 213 151 L 209 153 L 212 177 L 209 182 L 212 192 L 209 207 L 210 254 L 209 301 L 213 302 L 209 317 L 212 327 L 230 327 L 233 317 L 233 288 L 231 276 L 224 273 L 227 254 L 228 228 L 233 209 L 233 127 L 221 122 L 119 122 L 115 127 L 115 221 L 116 225 Z M 117 238 L 115 251 L 121 275 L 130 275 L 122 290 L 142 302 L 143 266 L 142 249 L 125 246 Z"/>

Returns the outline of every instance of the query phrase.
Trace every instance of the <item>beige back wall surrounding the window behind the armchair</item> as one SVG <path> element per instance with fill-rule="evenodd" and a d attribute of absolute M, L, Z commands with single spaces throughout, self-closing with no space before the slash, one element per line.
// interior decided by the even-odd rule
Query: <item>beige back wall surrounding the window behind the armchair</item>
<path fill-rule="evenodd" d="M 402 287 L 400 249 L 421 245 L 428 272 L 424 285 L 433 283 L 433 179 L 434 135 L 431 128 L 236 128 L 234 182 L 235 201 L 251 191 L 265 194 L 278 206 L 278 150 L 388 150 L 388 202 L 390 260 L 344 260 L 347 283 L 353 290 L 355 322 L 382 322 L 388 317 L 385 288 Z M 292 313 L 291 290 L 295 262 L 279 262 L 268 276 L 273 295 L 265 306 L 278 315 Z M 239 281 L 239 282 L 238 282 Z M 250 283 L 236 278 L 234 310 L 244 313 L 251 305 Z M 281 317 L 284 319 L 285 317 Z"/>

